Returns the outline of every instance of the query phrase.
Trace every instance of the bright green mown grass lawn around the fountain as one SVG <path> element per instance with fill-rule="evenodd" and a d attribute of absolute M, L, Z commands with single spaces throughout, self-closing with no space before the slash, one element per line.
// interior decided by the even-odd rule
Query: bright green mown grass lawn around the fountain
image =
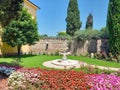
<path fill-rule="evenodd" d="M 49 61 L 49 60 L 54 60 L 54 59 L 60 59 L 60 58 L 62 58 L 62 56 L 50 56 L 50 55 L 22 56 L 20 65 L 22 65 L 24 67 L 45 68 L 44 66 L 42 66 L 43 62 Z M 68 56 L 68 58 L 84 61 L 86 63 L 99 65 L 99 66 L 120 68 L 120 63 L 115 63 L 115 62 L 91 59 L 91 58 L 83 57 L 83 56 Z M 13 60 L 15 60 L 13 57 L 12 58 L 0 58 L 0 64 L 3 64 L 3 63 L 9 64 Z"/>

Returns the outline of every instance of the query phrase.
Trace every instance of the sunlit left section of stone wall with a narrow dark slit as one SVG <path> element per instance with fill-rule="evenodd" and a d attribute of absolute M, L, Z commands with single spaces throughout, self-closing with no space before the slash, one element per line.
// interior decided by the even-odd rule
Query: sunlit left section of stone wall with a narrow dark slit
<path fill-rule="evenodd" d="M 68 40 L 66 39 L 42 39 L 30 46 L 30 52 L 33 54 L 62 52 L 68 49 L 67 45 Z"/>

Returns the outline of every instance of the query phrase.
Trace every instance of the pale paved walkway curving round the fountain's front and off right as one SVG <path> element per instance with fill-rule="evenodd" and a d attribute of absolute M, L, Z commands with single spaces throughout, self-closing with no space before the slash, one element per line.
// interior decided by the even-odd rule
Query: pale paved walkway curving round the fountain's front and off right
<path fill-rule="evenodd" d="M 70 69 L 70 68 L 81 68 L 82 66 L 90 66 L 93 68 L 99 68 L 103 70 L 113 70 L 113 71 L 120 71 L 120 68 L 112 68 L 112 67 L 105 67 L 105 66 L 95 66 L 95 65 L 90 65 L 82 61 L 78 61 L 78 63 L 74 66 L 63 66 L 63 65 L 55 65 L 52 64 L 52 61 L 47 61 L 43 63 L 43 66 L 50 67 L 50 68 L 57 68 L 57 69 Z"/>

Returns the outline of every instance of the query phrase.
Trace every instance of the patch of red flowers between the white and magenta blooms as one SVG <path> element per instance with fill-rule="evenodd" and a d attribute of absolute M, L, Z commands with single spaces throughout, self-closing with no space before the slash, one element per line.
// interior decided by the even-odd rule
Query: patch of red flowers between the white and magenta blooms
<path fill-rule="evenodd" d="M 86 74 L 76 71 L 48 70 L 44 71 L 40 79 L 44 81 L 42 88 L 55 90 L 87 90 Z"/>

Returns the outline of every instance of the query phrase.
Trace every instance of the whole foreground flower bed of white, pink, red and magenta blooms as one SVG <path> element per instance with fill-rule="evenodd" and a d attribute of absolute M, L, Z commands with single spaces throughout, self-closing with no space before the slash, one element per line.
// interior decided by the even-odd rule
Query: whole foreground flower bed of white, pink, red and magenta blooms
<path fill-rule="evenodd" d="M 19 68 L 9 76 L 8 85 L 10 90 L 120 90 L 120 76 Z"/>

